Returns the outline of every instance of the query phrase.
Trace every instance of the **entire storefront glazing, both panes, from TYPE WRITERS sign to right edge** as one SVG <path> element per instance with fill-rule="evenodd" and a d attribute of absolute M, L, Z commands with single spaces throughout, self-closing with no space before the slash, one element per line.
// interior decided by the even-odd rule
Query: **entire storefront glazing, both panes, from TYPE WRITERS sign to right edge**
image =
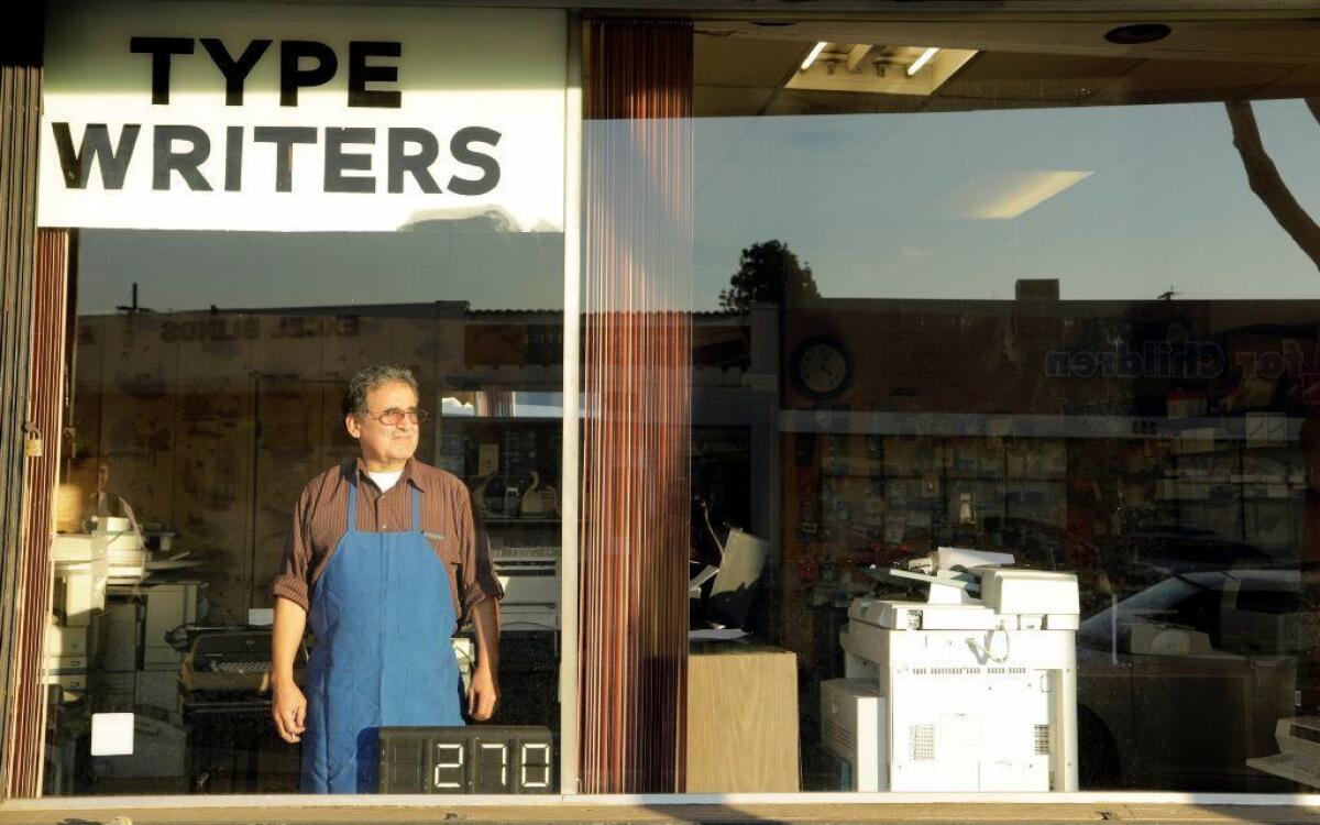
<path fill-rule="evenodd" d="M 1308 29 L 599 24 L 51 4 L 45 793 L 1320 787 Z"/>

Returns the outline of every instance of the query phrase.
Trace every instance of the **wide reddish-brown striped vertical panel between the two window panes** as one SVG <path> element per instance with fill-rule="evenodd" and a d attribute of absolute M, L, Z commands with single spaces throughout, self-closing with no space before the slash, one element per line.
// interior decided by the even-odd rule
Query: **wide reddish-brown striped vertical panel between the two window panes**
<path fill-rule="evenodd" d="M 681 792 L 692 360 L 690 21 L 593 20 L 583 124 L 581 783 Z"/>

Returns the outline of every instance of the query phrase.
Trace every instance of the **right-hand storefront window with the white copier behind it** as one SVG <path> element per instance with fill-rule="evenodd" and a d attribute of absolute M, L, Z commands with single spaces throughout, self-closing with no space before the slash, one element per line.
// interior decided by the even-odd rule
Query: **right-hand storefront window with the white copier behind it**
<path fill-rule="evenodd" d="M 697 24 L 689 789 L 1320 784 L 1315 55 L 1113 28 Z"/>

